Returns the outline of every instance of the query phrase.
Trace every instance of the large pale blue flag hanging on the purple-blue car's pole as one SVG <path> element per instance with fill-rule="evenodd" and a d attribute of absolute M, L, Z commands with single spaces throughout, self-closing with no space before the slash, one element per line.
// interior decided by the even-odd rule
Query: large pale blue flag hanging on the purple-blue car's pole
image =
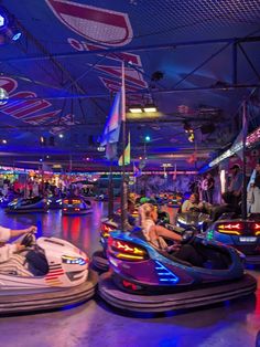
<path fill-rule="evenodd" d="M 108 159 L 113 159 L 117 156 L 117 143 L 119 140 L 121 125 L 120 107 L 121 91 L 119 91 L 115 97 L 100 141 L 100 146 L 106 146 L 106 157 Z"/>

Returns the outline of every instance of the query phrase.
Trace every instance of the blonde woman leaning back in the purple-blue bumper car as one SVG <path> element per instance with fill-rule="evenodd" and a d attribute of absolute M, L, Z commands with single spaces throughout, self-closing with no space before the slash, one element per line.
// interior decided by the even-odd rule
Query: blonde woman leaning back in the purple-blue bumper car
<path fill-rule="evenodd" d="M 142 232 L 145 239 L 155 248 L 165 250 L 180 260 L 186 261 L 195 266 L 202 266 L 203 259 L 191 244 L 181 244 L 183 238 L 162 225 L 156 225 L 158 212 L 152 203 L 144 203 L 139 209 Z M 164 239 L 174 242 L 167 246 Z"/>

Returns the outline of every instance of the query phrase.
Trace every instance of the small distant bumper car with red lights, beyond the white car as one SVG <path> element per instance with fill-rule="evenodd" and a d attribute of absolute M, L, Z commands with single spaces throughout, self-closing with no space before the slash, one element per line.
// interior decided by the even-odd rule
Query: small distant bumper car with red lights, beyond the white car
<path fill-rule="evenodd" d="M 63 200 L 63 214 L 87 214 L 93 212 L 91 202 L 80 197 L 66 198 Z"/>

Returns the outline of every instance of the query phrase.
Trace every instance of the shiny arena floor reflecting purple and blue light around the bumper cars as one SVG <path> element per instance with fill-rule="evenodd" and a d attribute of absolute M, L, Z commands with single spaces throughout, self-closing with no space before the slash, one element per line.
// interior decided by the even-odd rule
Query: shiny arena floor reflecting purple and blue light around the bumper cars
<path fill-rule="evenodd" d="M 89 254 L 98 248 L 100 218 L 107 209 L 94 202 L 82 217 L 46 214 L 7 215 L 1 224 L 36 224 L 40 233 L 67 239 Z M 250 270 L 258 278 L 260 269 Z M 129 316 L 91 299 L 71 309 L 0 318 L 0 346 L 4 347 L 254 347 L 260 330 L 260 290 L 256 296 L 166 315 Z"/>

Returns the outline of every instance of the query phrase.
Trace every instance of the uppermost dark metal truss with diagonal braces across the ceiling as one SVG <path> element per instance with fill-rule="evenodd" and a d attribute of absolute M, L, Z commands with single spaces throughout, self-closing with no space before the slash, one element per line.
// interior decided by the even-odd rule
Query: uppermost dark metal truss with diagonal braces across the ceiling
<path fill-rule="evenodd" d="M 35 40 L 33 38 L 33 40 Z M 180 81 L 177 81 L 173 87 L 171 88 L 163 88 L 160 86 L 160 90 L 155 88 L 153 91 L 150 91 L 149 88 L 145 90 L 138 90 L 134 92 L 127 92 L 127 95 L 137 95 L 137 94 L 148 94 L 151 93 L 153 95 L 156 94 L 172 94 L 172 93 L 182 93 L 182 92 L 196 92 L 196 91 L 231 91 L 237 88 L 256 88 L 260 87 L 260 73 L 257 71 L 257 67 L 253 65 L 252 61 L 250 60 L 249 55 L 247 54 L 246 48 L 242 45 L 243 43 L 251 43 L 251 44 L 259 44 L 260 36 L 247 36 L 247 38 L 229 38 L 229 39 L 219 39 L 219 40 L 204 40 L 204 41 L 187 41 L 187 42 L 172 42 L 166 44 L 154 44 L 154 45 L 147 45 L 147 46 L 132 46 L 132 48 L 110 48 L 107 50 L 94 50 L 94 51 L 84 51 L 84 52 L 76 52 L 76 53 L 62 53 L 62 54 L 51 54 L 46 52 L 46 50 L 40 45 L 41 50 L 46 54 L 44 56 L 28 56 L 28 57 L 21 57 L 19 61 L 42 61 L 46 59 L 51 59 L 51 61 L 58 66 L 63 72 L 66 73 L 68 80 L 72 82 L 72 84 L 75 86 L 76 91 L 79 92 L 79 94 L 73 94 L 73 95 L 59 95 L 59 96 L 37 96 L 35 98 L 31 97 L 30 99 L 64 99 L 64 98 L 90 98 L 90 99 L 98 99 L 98 98 L 110 98 L 110 94 L 86 94 L 85 91 L 77 84 L 77 81 L 74 80 L 69 72 L 66 71 L 61 63 L 56 61 L 56 59 L 62 57 L 69 57 L 69 56 L 79 56 L 79 55 L 93 55 L 93 54 L 106 54 L 108 56 L 111 53 L 119 53 L 119 52 L 137 52 L 137 51 L 153 51 L 153 50 L 169 50 L 169 49 L 181 49 L 184 46 L 201 46 L 201 45 L 208 45 L 208 44 L 215 44 L 219 45 L 221 44 L 220 49 L 218 49 L 215 53 L 210 54 L 205 61 L 203 61 L 198 66 L 193 69 L 188 74 L 186 74 L 184 77 L 182 77 Z M 224 44 L 224 45 L 223 45 Z M 201 70 L 205 64 L 210 62 L 213 59 L 216 59 L 223 51 L 227 50 L 227 48 L 231 46 L 232 50 L 230 50 L 230 61 L 232 63 L 231 69 L 231 81 L 232 83 L 227 83 L 225 81 L 217 81 L 214 85 L 207 85 L 207 86 L 196 86 L 196 87 L 177 87 L 182 82 L 187 80 L 189 76 L 192 76 L 195 72 Z M 247 63 L 256 74 L 258 82 L 249 83 L 249 82 L 239 82 L 238 81 L 238 74 L 239 74 L 239 66 L 238 66 L 238 49 L 242 53 L 242 55 L 246 57 Z M 18 59 L 3 59 L 1 60 L 4 62 L 8 60 L 9 62 L 17 61 Z M 100 108 L 100 106 L 99 106 Z"/>

